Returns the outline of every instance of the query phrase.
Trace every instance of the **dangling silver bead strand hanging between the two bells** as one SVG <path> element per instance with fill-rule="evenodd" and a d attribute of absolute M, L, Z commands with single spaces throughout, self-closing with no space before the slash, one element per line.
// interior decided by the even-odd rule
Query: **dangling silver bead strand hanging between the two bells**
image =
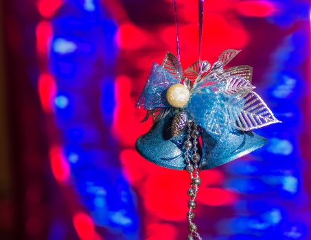
<path fill-rule="evenodd" d="M 189 222 L 189 231 L 190 234 L 187 237 L 187 240 L 196 239 L 202 240 L 197 230 L 198 227 L 194 224 L 194 208 L 196 208 L 196 194 L 198 193 L 198 186 L 201 183 L 199 173 L 200 170 L 198 168 L 198 162 L 200 161 L 200 154 L 198 154 L 198 126 L 192 121 L 187 122 L 187 141 L 185 141 L 184 146 L 186 149 L 185 158 L 187 160 L 186 170 L 190 173 L 190 188 L 188 190 L 188 196 L 190 197 L 188 208 L 189 211 L 187 213 L 187 219 Z"/>

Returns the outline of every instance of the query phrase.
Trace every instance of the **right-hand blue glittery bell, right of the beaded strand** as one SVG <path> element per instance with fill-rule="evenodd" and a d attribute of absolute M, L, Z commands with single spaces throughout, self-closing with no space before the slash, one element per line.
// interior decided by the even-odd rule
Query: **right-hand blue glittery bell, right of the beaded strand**
<path fill-rule="evenodd" d="M 227 139 L 220 141 L 202 130 L 202 152 L 200 169 L 218 167 L 255 151 L 266 144 L 266 139 L 254 132 L 233 130 Z"/>

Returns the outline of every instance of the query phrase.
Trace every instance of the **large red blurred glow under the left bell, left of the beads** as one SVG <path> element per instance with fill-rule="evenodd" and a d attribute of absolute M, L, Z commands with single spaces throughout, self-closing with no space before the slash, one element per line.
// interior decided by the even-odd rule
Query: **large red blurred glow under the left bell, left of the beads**
<path fill-rule="evenodd" d="M 141 191 L 148 213 L 158 219 L 183 221 L 187 213 L 186 171 L 174 171 L 143 159 L 135 149 L 126 149 L 120 156 L 129 182 Z"/>

